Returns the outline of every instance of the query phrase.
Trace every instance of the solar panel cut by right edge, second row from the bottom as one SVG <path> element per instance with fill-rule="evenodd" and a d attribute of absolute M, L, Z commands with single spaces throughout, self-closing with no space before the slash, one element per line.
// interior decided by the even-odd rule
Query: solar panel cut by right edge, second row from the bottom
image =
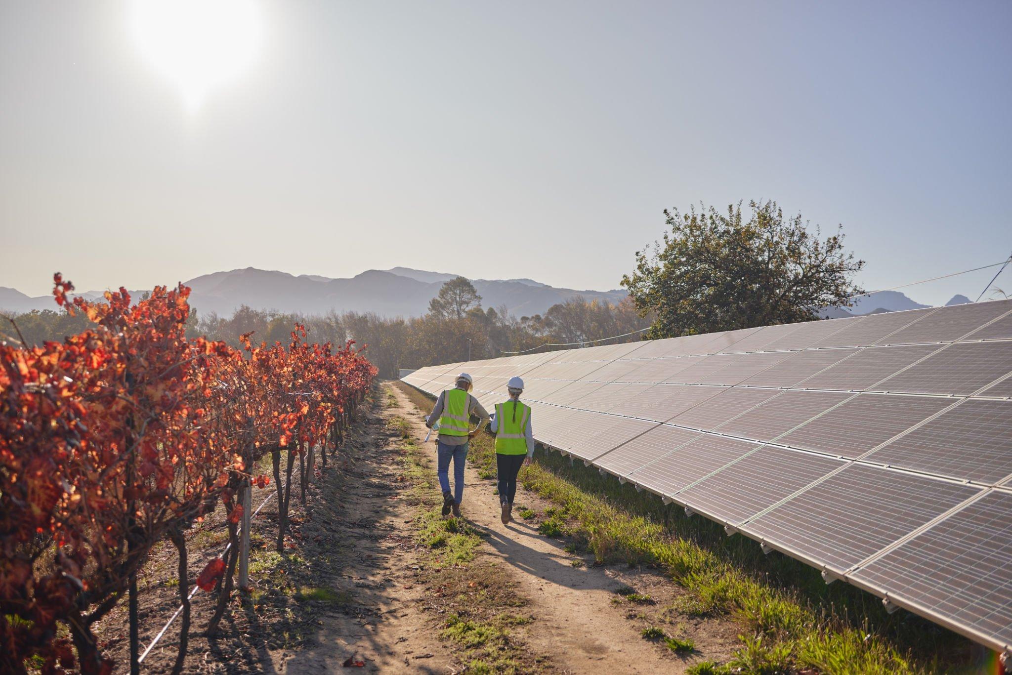
<path fill-rule="evenodd" d="M 1012 474 L 1012 402 L 963 401 L 865 458 L 954 479 L 1001 481 Z"/>

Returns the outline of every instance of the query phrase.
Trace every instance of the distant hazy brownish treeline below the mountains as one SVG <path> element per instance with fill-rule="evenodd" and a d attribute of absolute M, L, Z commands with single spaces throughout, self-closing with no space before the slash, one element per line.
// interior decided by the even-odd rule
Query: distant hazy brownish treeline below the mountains
<path fill-rule="evenodd" d="M 63 340 L 81 332 L 87 323 L 81 317 L 58 312 L 30 312 L 14 317 L 28 344 Z M 590 342 L 650 326 L 631 302 L 617 305 L 577 298 L 554 305 L 543 315 L 516 317 L 505 308 L 484 308 L 474 285 L 457 277 L 443 284 L 421 317 L 389 318 L 373 313 L 330 312 L 306 316 L 243 306 L 231 317 L 192 312 L 187 337 L 203 336 L 239 346 L 239 336 L 252 333 L 255 343 L 286 344 L 291 326 L 306 327 L 315 342 L 343 344 L 354 340 L 368 345 L 369 361 L 386 377 L 398 376 L 399 368 L 417 368 L 436 363 L 492 358 L 506 351 L 520 351 L 545 342 Z M 2 330 L 2 328 L 0 328 Z M 620 341 L 637 340 L 632 335 Z"/>

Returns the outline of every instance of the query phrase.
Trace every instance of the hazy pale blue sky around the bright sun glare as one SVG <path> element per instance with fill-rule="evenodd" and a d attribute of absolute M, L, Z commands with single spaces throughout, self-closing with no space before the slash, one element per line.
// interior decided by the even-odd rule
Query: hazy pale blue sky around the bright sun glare
<path fill-rule="evenodd" d="M 0 4 L 0 285 L 611 288 L 663 208 L 770 198 L 843 224 L 867 288 L 1012 251 L 1012 3 L 252 4 L 252 61 L 195 109 L 132 3 Z"/>

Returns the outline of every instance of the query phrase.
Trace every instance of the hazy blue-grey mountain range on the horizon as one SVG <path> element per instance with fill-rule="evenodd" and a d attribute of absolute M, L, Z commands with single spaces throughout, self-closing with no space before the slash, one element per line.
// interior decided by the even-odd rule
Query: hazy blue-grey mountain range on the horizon
<path fill-rule="evenodd" d="M 315 274 L 299 276 L 286 272 L 256 269 L 233 269 L 197 276 L 185 284 L 192 288 L 190 303 L 201 314 L 215 312 L 230 316 L 241 305 L 260 310 L 326 314 L 335 312 L 374 312 L 386 316 L 421 316 L 428 309 L 440 286 L 456 274 L 432 272 L 410 267 L 387 270 L 370 269 L 351 278 L 330 278 Z M 624 290 L 576 290 L 557 288 L 533 279 L 473 279 L 484 307 L 506 309 L 515 316 L 542 314 L 550 307 L 583 297 L 618 303 Z M 102 291 L 80 293 L 85 298 L 101 297 Z M 135 294 L 140 296 L 140 292 Z M 965 296 L 955 296 L 948 305 L 968 303 Z M 898 312 L 927 307 L 897 290 L 883 290 L 855 301 L 848 310 L 827 308 L 823 316 L 847 317 L 874 312 Z M 31 310 L 55 310 L 52 296 L 31 298 L 14 288 L 0 286 L 0 310 L 9 313 Z"/>

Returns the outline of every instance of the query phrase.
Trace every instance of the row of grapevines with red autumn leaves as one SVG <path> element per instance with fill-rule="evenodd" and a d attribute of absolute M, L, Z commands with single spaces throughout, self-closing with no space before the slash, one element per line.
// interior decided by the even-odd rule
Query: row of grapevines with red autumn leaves
<path fill-rule="evenodd" d="M 41 347 L 0 344 L 0 671 L 110 672 L 92 628 L 125 596 L 137 672 L 137 574 L 168 540 L 179 554 L 179 672 L 183 532 L 224 504 L 227 555 L 197 577 L 219 587 L 214 634 L 235 585 L 249 490 L 270 482 L 254 475 L 256 461 L 272 458 L 281 552 L 294 463 L 305 495 L 307 465 L 319 450 L 326 468 L 375 369 L 351 342 L 312 344 L 299 325 L 288 344 L 187 338 L 181 284 L 136 304 L 123 288 L 95 303 L 71 300 L 60 274 L 54 285 L 58 305 L 92 327 Z M 13 323 L 4 332 L 18 337 Z"/>

